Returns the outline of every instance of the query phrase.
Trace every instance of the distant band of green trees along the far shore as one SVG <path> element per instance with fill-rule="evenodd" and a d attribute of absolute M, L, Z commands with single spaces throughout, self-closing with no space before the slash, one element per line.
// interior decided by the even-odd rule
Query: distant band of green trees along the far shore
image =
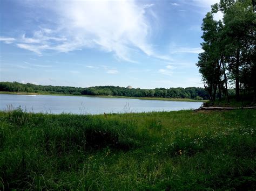
<path fill-rule="evenodd" d="M 71 95 L 114 95 L 129 97 L 166 97 L 190 98 L 194 100 L 208 100 L 204 88 L 124 88 L 119 86 L 96 86 L 90 88 L 76 88 L 65 86 L 41 86 L 32 83 L 0 82 L 0 91 L 24 91 L 28 93 L 71 94 Z"/>

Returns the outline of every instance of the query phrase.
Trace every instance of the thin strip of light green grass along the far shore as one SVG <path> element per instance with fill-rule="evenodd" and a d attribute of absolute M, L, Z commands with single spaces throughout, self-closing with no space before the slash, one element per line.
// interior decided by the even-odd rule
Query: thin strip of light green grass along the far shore
<path fill-rule="evenodd" d="M 192 100 L 188 98 L 165 98 L 165 97 L 128 97 L 128 96 L 111 96 L 111 95 L 72 95 L 72 94 L 50 94 L 50 93 L 29 93 L 25 91 L 0 91 L 0 94 L 17 94 L 17 95 L 56 95 L 56 96 L 85 96 L 85 97 L 104 97 L 104 98 L 129 98 L 139 100 L 163 100 L 163 101 L 184 101 L 184 102 L 206 102 L 207 100 Z"/>

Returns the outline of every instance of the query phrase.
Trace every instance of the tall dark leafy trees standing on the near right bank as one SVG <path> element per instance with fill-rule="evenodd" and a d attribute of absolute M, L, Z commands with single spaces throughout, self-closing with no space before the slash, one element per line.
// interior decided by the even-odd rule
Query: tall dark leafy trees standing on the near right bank
<path fill-rule="evenodd" d="M 255 5 L 252 0 L 220 0 L 203 19 L 204 52 L 196 65 L 211 101 L 225 97 L 228 102 L 228 86 L 234 87 L 237 101 L 256 101 Z M 219 11 L 223 20 L 214 20 Z"/>

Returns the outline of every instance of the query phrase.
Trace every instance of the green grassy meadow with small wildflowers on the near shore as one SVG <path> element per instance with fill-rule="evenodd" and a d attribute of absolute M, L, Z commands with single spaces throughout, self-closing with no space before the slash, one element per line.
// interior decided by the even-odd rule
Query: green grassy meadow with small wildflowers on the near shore
<path fill-rule="evenodd" d="M 256 110 L 0 112 L 0 189 L 255 189 Z"/>

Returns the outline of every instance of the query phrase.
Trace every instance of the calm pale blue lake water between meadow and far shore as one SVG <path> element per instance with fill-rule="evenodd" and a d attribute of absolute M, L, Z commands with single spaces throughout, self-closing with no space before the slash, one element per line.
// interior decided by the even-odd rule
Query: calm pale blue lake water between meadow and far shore
<path fill-rule="evenodd" d="M 124 112 L 175 111 L 197 109 L 201 102 L 177 102 L 158 100 L 137 100 L 129 98 L 101 98 L 52 95 L 0 94 L 0 110 L 8 106 L 32 112 L 60 114 L 103 114 Z"/>

